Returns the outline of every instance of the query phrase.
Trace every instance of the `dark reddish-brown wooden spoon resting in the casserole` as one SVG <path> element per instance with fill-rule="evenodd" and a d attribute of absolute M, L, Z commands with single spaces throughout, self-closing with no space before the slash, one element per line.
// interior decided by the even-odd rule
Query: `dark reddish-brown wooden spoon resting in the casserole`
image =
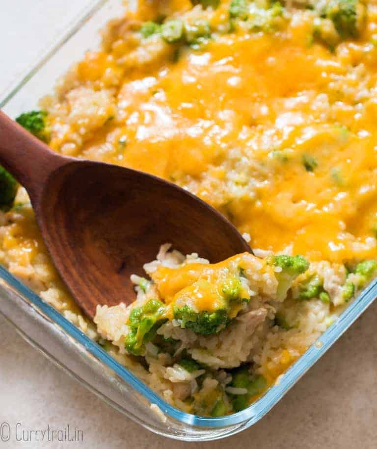
<path fill-rule="evenodd" d="M 83 311 L 135 299 L 160 245 L 211 262 L 250 251 L 214 208 L 153 175 L 61 156 L 0 112 L 0 164 L 27 189 L 42 236 Z"/>

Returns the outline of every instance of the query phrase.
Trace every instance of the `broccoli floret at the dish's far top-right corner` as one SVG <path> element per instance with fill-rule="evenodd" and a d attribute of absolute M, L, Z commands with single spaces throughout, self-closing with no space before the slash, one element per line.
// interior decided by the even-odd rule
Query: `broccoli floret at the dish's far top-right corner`
<path fill-rule="evenodd" d="M 330 0 L 324 15 L 332 21 L 339 36 L 348 39 L 359 35 L 365 6 L 359 0 Z"/>

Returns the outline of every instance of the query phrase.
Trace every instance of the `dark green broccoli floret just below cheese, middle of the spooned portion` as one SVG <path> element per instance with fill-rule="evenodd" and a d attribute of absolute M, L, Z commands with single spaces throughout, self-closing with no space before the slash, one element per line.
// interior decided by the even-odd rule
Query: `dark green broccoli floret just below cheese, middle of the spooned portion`
<path fill-rule="evenodd" d="M 183 329 L 200 335 L 212 335 L 222 330 L 229 322 L 228 312 L 218 309 L 213 312 L 195 312 L 188 305 L 173 307 L 174 318 Z"/>

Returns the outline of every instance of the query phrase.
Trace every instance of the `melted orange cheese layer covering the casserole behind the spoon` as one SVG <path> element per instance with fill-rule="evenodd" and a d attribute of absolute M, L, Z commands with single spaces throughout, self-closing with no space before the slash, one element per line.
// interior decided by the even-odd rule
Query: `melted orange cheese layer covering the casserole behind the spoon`
<path fill-rule="evenodd" d="M 139 3 L 136 23 L 191 8 Z M 211 25 L 228 8 L 222 1 Z M 127 32 L 127 23 L 113 25 L 104 49 L 76 69 L 81 87 L 108 95 L 108 120 L 89 119 L 85 133 L 85 122 L 69 119 L 72 92 L 64 94 L 58 109 L 68 119 L 57 114 L 53 148 L 173 180 L 248 232 L 254 248 L 291 246 L 335 262 L 377 256 L 376 6 L 360 39 L 334 52 L 310 42 L 305 10 L 280 32 L 220 34 L 178 60 L 175 46 L 140 43 L 140 25 Z M 195 278 L 195 267 L 185 270 L 166 297 Z"/>

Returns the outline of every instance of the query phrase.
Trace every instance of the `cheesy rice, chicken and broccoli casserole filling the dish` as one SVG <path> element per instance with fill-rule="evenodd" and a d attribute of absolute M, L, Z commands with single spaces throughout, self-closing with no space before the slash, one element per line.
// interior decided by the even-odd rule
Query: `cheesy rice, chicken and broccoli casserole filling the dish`
<path fill-rule="evenodd" d="M 1 263 L 184 411 L 247 407 L 377 274 L 376 1 L 139 0 L 40 108 L 17 121 L 53 150 L 169 179 L 250 242 L 156 248 L 92 323 L 0 170 Z"/>

